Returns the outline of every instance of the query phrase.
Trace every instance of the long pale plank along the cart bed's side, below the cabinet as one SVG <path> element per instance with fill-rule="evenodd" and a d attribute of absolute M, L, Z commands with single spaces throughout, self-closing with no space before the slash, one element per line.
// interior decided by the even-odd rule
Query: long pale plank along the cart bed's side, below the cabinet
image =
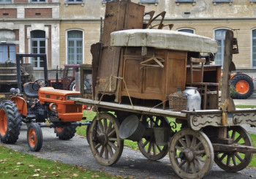
<path fill-rule="evenodd" d="M 175 112 L 171 110 L 162 110 L 159 108 L 141 107 L 141 106 L 132 107 L 132 105 L 130 104 L 117 104 L 114 102 L 99 102 L 97 100 L 83 99 L 83 98 L 70 98 L 70 99 L 74 100 L 76 104 L 89 104 L 89 105 L 94 105 L 97 107 L 102 107 L 110 110 L 121 110 L 121 111 L 127 111 L 132 113 L 159 115 L 159 116 L 165 116 L 165 117 L 171 117 L 171 118 L 187 119 L 187 114 Z"/>

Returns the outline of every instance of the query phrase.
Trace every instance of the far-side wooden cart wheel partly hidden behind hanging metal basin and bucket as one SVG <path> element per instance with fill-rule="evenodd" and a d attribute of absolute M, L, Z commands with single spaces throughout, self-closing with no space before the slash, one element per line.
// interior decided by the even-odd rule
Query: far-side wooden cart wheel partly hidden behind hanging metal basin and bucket
<path fill-rule="evenodd" d="M 153 129 L 153 126 L 168 126 L 167 118 L 161 116 L 151 116 L 146 119 L 147 129 Z M 151 136 L 143 137 L 143 139 L 138 141 L 138 147 L 140 152 L 147 159 L 150 160 L 159 160 L 166 156 L 168 153 L 168 144 L 167 145 L 157 145 L 154 133 Z"/>

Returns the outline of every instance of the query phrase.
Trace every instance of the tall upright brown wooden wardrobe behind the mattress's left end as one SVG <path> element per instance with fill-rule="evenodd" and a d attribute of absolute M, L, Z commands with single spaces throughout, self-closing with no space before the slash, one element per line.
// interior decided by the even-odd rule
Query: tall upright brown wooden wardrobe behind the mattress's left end
<path fill-rule="evenodd" d="M 102 36 L 104 48 L 99 61 L 95 89 L 96 99 L 99 93 L 103 94 L 104 92 L 118 96 L 116 77 L 118 76 L 121 47 L 110 47 L 110 33 L 130 28 L 143 28 L 144 9 L 144 6 L 130 1 L 108 1 L 106 4 Z M 106 88 L 107 86 L 108 88 Z"/>

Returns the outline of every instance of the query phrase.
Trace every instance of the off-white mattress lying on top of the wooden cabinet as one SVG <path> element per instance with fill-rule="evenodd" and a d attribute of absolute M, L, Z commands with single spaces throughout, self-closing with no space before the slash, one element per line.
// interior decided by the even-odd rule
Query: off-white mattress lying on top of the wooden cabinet
<path fill-rule="evenodd" d="M 180 31 L 161 29 L 129 29 L 110 34 L 113 47 L 156 47 L 201 53 L 217 53 L 217 41 Z"/>

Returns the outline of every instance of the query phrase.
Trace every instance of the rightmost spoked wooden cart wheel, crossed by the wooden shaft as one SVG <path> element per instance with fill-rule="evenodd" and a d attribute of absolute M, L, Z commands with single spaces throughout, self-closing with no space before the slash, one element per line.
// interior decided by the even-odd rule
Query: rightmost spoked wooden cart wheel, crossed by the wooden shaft
<path fill-rule="evenodd" d="M 230 126 L 227 137 L 234 140 L 234 144 L 253 146 L 248 132 L 241 126 Z M 217 152 L 214 156 L 215 163 L 227 172 L 238 172 L 249 165 L 253 153 Z"/>

